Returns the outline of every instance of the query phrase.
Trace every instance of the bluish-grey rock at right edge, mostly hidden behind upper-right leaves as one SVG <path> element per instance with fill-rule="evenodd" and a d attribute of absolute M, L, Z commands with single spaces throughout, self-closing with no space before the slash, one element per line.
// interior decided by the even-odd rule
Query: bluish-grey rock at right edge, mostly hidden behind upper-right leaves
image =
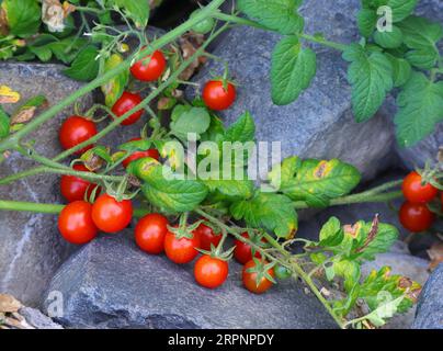
<path fill-rule="evenodd" d="M 433 21 L 443 22 L 443 2 L 440 0 L 420 1 L 417 13 Z M 443 41 L 440 43 L 440 52 L 443 53 Z M 438 124 L 434 133 L 411 148 L 398 148 L 397 152 L 405 166 L 413 169 L 423 167 L 427 160 L 436 161 L 439 148 L 443 146 L 443 123 Z"/>

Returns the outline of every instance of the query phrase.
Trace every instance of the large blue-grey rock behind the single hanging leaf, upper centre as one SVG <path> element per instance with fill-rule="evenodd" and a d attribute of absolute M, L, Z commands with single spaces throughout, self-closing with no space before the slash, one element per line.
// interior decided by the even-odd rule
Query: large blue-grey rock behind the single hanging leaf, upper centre
<path fill-rule="evenodd" d="M 351 43 L 357 39 L 355 13 L 357 0 L 311 0 L 304 4 L 306 33 L 326 33 L 330 39 Z M 238 99 L 222 113 L 227 124 L 250 111 L 257 124 L 257 139 L 282 141 L 283 156 L 341 158 L 359 167 L 371 178 L 390 162 L 393 146 L 390 116 L 377 115 L 364 124 L 354 122 L 347 64 L 340 53 L 316 47 L 317 76 L 298 101 L 276 106 L 271 100 L 270 66 L 273 47 L 281 36 L 250 27 L 230 31 L 213 54 L 212 61 L 197 77 L 206 81 L 211 73 L 222 73 L 223 63 L 238 82 Z M 193 88 L 188 91 L 193 94 Z M 387 127 L 388 126 L 388 127 Z"/>

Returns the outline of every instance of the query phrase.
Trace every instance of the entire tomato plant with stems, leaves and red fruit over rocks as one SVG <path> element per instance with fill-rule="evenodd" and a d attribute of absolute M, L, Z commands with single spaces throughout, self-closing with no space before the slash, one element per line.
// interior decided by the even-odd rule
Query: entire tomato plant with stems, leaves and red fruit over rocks
<path fill-rule="evenodd" d="M 88 183 L 96 183 L 104 194 L 93 204 L 77 201 L 67 206 L 2 200 L 0 210 L 60 213 L 60 231 L 67 240 L 76 244 L 88 242 L 98 230 L 123 230 L 133 214 L 143 216 L 135 228 L 135 240 L 140 249 L 149 253 L 164 249 L 167 257 L 177 263 L 191 262 L 201 250 L 203 256 L 195 262 L 194 274 L 203 286 L 213 288 L 223 284 L 234 256 L 246 264 L 242 278 L 251 292 L 265 292 L 275 283 L 274 276 L 297 278 L 314 292 L 339 327 L 380 327 L 395 312 L 407 312 L 420 291 L 419 284 L 389 274 L 388 268 L 374 271 L 366 278 L 361 274 L 362 264 L 373 260 L 375 254 L 386 252 L 397 239 L 398 230 L 380 223 L 377 216 L 372 222 L 347 224 L 332 217 L 321 228 L 318 240 L 298 239 L 294 235 L 298 229 L 299 211 L 354 203 L 387 203 L 401 196 L 398 188 L 402 181 L 355 193 L 362 177 L 352 165 L 339 159 L 302 159 L 296 156 L 275 165 L 262 184 L 250 179 L 215 177 L 213 170 L 209 177 L 203 177 L 207 176 L 200 173 L 204 156 L 214 161 L 209 162 L 211 166 L 214 163 L 248 174 L 247 166 L 238 167 L 236 160 L 225 158 L 225 155 L 223 159 L 213 160 L 213 157 L 223 154 L 225 141 L 253 143 L 254 120 L 245 112 L 237 122 L 225 126 L 216 115 L 216 111 L 232 105 L 237 89 L 246 90 L 241 82 L 236 88 L 228 81 L 228 61 L 222 78 L 202 87 L 203 101 L 185 101 L 183 89 L 198 65 L 213 58 L 205 53 L 208 45 L 232 24 L 271 30 L 283 35 L 272 53 L 270 77 L 275 104 L 293 102 L 309 87 L 317 66 L 316 53 L 306 42 L 320 44 L 338 49 L 350 63 L 348 78 L 357 122 L 371 118 L 388 93 L 398 92 L 397 138 L 400 145 L 410 146 L 430 133 L 430 126 L 442 116 L 441 58 L 435 50 L 436 42 L 443 36 L 442 29 L 410 15 L 414 2 L 395 11 L 395 37 L 383 35 L 376 31 L 373 21 L 376 1 L 364 1 L 364 11 L 359 14 L 362 38 L 342 44 L 304 33 L 298 13 L 302 1 L 289 1 L 291 11 L 287 11 L 288 2 L 285 1 L 238 0 L 241 16 L 237 12 L 219 11 L 223 2 L 213 0 L 173 31 L 148 38 L 145 34 L 149 20 L 148 1 L 91 0 L 82 5 L 70 1 L 77 7 L 65 4 L 60 8 L 63 12 L 54 12 L 64 13 L 64 18 L 57 19 L 48 13 L 42 16 L 41 1 L 3 0 L 0 58 L 58 59 L 69 65 L 65 75 L 87 83 L 38 115 L 34 113 L 44 109 L 45 99 L 42 97 L 18 109 L 21 118 L 0 107 L 0 161 L 11 151 L 16 151 L 38 163 L 38 167 L 0 179 L 0 184 L 49 172 L 65 177 L 63 188 L 66 188 L 68 200 L 84 195 L 84 192 L 89 195 L 88 186 L 84 188 Z M 76 21 L 70 19 L 71 24 L 80 25 L 78 31 L 69 31 L 67 24 L 71 13 L 65 11 L 80 13 Z M 21 21 L 14 21 L 19 14 Z M 117 18 L 122 18 L 127 27 L 115 26 Z M 281 21 L 283 18 L 285 21 Z M 215 23 L 220 25 L 215 26 Z M 90 35 L 79 37 L 77 33 L 84 33 L 88 27 Z M 57 35 L 56 30 L 59 31 Z M 195 36 L 195 33 L 188 33 L 190 30 L 207 35 Z M 421 36 L 418 37 L 417 33 Z M 136 42 L 134 47 L 137 49 L 130 49 L 129 39 Z M 197 44 L 193 46 L 193 42 Z M 394 47 L 399 43 L 399 47 Z M 168 63 L 162 53 L 168 53 Z M 130 75 L 138 81 L 130 79 Z M 30 134 L 96 88 L 104 94 L 104 104 L 94 104 L 86 117 L 75 115 L 64 123 L 59 135 L 64 152 L 55 157 L 41 155 L 29 141 Z M 20 100 L 19 92 L 5 90 L 3 93 L 4 88 L 0 89 L 2 99 L 11 103 Z M 135 89 L 140 94 L 129 92 Z M 423 105 L 422 101 L 429 103 Z M 77 111 L 79 106 L 75 107 Z M 139 131 L 140 139 L 118 146 L 106 145 L 104 137 L 109 133 L 120 124 L 136 123 L 145 112 L 147 121 Z M 20 123 L 14 123 L 16 120 Z M 103 128 L 98 131 L 94 122 L 100 122 Z M 197 148 L 211 144 L 211 152 L 194 152 L 188 143 L 190 135 Z M 182 149 L 171 148 L 171 144 Z M 193 163 L 195 154 L 198 155 Z M 82 170 L 79 173 L 78 167 L 66 166 L 65 161 L 71 156 L 75 156 L 71 165 L 81 161 L 93 172 Z M 249 161 L 250 155 L 243 158 L 243 161 Z M 425 230 L 432 223 L 433 214 L 423 202 L 433 200 L 435 189 L 442 188 L 443 178 L 441 165 L 418 173 L 422 174 L 421 180 L 430 180 L 433 188 L 422 181 L 418 188 L 413 180 L 416 176 L 405 180 L 406 197 L 421 202 L 407 203 L 400 211 L 401 222 L 413 231 Z M 261 191 L 261 185 L 272 189 L 272 192 Z M 136 208 L 133 208 L 133 199 Z M 432 207 L 433 203 L 429 206 Z M 168 226 L 163 214 L 177 215 L 179 223 L 171 220 L 171 226 Z M 229 238 L 236 240 L 232 247 L 228 247 L 231 244 Z M 288 249 L 291 244 L 298 244 L 303 253 L 294 254 Z M 322 294 L 329 285 L 340 286 L 337 298 Z M 377 299 L 380 293 L 390 297 L 382 302 Z M 386 315 L 387 308 L 393 312 L 389 316 Z"/>

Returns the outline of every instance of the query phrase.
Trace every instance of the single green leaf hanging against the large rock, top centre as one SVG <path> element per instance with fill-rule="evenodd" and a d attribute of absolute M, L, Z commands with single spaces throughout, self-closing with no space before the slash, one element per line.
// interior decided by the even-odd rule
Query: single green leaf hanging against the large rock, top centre
<path fill-rule="evenodd" d="M 296 36 L 283 38 L 272 54 L 272 101 L 286 105 L 309 87 L 316 75 L 316 54 L 303 48 Z"/>

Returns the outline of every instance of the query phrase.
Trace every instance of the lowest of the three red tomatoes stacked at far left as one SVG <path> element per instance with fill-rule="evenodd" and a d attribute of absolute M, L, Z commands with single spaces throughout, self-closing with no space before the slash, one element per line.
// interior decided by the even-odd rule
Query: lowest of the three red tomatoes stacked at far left
<path fill-rule="evenodd" d="M 92 205 L 84 201 L 66 205 L 58 217 L 58 229 L 71 244 L 83 245 L 94 239 L 98 229 L 92 222 Z"/>

